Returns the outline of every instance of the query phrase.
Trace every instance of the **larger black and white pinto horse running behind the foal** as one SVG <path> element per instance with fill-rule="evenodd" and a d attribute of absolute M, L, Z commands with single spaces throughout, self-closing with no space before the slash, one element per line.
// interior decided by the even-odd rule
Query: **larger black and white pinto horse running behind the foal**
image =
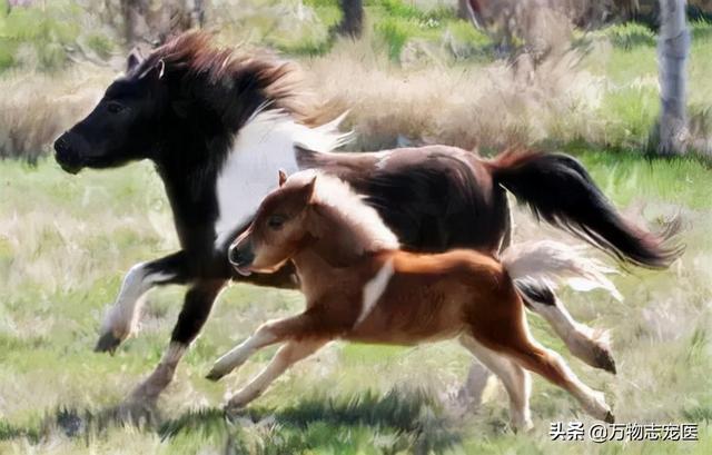
<path fill-rule="evenodd" d="M 113 352 L 136 332 L 141 297 L 152 287 L 188 285 L 164 357 L 129 400 L 152 403 L 168 386 L 230 279 L 296 286 L 288 267 L 241 277 L 228 261 L 230 241 L 277 186 L 278 169 L 320 168 L 348 181 L 412 250 L 496 255 L 511 233 L 508 190 L 537 218 L 623 263 L 665 268 L 681 253 L 665 246 L 666 235 L 622 218 L 581 164 L 565 155 L 505 152 L 485 160 L 445 146 L 334 152 L 345 139 L 336 130 L 339 120 L 312 125 L 293 81 L 289 65 L 216 49 L 208 36 L 188 32 L 146 59 L 132 53 L 126 75 L 55 142 L 57 161 L 71 174 L 149 159 L 170 200 L 181 249 L 128 271 L 97 344 L 97 350 Z M 518 286 L 530 309 L 574 355 L 615 372 L 603 340 L 576 323 L 551 289 Z"/>

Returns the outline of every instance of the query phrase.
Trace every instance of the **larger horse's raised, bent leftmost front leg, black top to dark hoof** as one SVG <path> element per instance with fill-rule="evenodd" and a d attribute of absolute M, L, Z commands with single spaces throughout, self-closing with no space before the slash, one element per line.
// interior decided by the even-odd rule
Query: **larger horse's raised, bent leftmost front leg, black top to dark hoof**
<path fill-rule="evenodd" d="M 123 278 L 116 303 L 103 319 L 95 350 L 113 353 L 136 332 L 142 297 L 149 289 L 158 285 L 185 284 L 190 278 L 184 251 L 131 267 Z"/>

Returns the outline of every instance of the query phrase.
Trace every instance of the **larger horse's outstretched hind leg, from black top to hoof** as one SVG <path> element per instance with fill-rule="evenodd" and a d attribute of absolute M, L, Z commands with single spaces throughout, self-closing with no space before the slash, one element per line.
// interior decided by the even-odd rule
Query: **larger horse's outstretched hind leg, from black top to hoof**
<path fill-rule="evenodd" d="M 607 330 L 593 329 L 576 322 L 546 286 L 517 280 L 516 287 L 526 306 L 552 326 L 571 354 L 592 367 L 615 374 L 615 360 L 609 346 Z"/>

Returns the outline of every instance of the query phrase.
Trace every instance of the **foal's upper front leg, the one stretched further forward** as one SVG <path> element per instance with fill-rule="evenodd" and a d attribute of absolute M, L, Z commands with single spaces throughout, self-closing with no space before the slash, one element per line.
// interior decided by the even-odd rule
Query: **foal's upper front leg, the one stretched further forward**
<path fill-rule="evenodd" d="M 309 328 L 313 326 L 312 320 L 312 316 L 304 313 L 299 316 L 273 320 L 261 325 L 253 336 L 220 357 L 212 365 L 212 369 L 206 377 L 210 380 L 218 380 L 266 346 L 300 338 L 305 335 L 309 336 Z"/>

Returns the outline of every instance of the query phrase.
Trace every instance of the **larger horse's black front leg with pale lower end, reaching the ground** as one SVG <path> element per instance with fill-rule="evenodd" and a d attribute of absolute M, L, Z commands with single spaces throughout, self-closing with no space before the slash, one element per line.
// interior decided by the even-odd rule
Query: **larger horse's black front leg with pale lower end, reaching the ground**
<path fill-rule="evenodd" d="M 212 304 L 227 279 L 201 279 L 196 281 L 188 293 L 184 307 L 174 328 L 170 344 L 154 373 L 139 384 L 130 394 L 129 402 L 152 404 L 174 378 L 176 367 L 190 343 L 198 336 L 208 319 Z"/>

